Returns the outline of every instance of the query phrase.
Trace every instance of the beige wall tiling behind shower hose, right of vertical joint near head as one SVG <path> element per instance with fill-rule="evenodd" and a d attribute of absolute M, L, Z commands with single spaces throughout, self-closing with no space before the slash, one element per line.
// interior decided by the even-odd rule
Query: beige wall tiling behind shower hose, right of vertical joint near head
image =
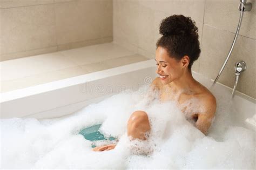
<path fill-rule="evenodd" d="M 234 64 L 244 60 L 247 69 L 240 76 L 237 90 L 256 98 L 256 4 L 254 0 L 247 2 L 251 2 L 253 8 L 244 13 L 237 44 L 219 82 L 233 88 Z M 199 72 L 212 79 L 217 76 L 233 42 L 240 15 L 238 6 L 239 1 L 206 0 Z"/>

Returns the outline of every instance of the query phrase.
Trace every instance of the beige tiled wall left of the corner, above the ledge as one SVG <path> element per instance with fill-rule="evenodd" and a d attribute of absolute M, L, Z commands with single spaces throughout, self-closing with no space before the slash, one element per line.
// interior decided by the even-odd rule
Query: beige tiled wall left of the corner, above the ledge
<path fill-rule="evenodd" d="M 112 42 L 112 12 L 112 0 L 1 0 L 0 61 Z"/>

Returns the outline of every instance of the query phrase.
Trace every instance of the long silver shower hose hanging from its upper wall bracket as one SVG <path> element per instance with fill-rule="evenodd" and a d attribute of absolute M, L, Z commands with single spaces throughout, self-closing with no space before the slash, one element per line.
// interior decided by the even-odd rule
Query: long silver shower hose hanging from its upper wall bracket
<path fill-rule="evenodd" d="M 234 45 L 237 42 L 237 37 L 238 37 L 238 33 L 239 33 L 239 30 L 240 30 L 240 27 L 241 27 L 242 16 L 243 16 L 244 12 L 245 11 L 251 11 L 251 9 L 252 9 L 252 3 L 250 3 L 250 2 L 246 3 L 246 0 L 240 0 L 240 5 L 239 5 L 238 10 L 241 11 L 241 12 L 240 12 L 240 18 L 239 18 L 239 22 L 238 22 L 238 26 L 237 26 L 237 32 L 235 33 L 235 37 L 234 37 L 233 43 L 231 45 L 230 52 L 228 52 L 227 58 L 226 58 L 225 62 L 223 63 L 223 66 L 221 67 L 221 69 L 219 71 L 219 74 L 215 78 L 212 86 L 214 86 L 217 83 L 217 81 L 218 81 L 218 79 L 220 77 L 220 74 L 223 72 L 223 70 L 224 70 L 224 68 L 225 68 L 225 66 L 227 64 L 227 61 L 230 58 L 230 55 L 231 55 L 231 53 L 233 51 L 233 48 L 234 48 Z"/>

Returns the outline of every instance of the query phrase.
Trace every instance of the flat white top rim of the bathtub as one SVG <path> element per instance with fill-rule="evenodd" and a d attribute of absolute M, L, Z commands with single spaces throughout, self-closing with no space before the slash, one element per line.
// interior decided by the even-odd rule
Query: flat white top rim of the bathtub
<path fill-rule="evenodd" d="M 126 72 L 142 70 L 142 69 L 146 69 L 147 67 L 155 67 L 154 64 L 155 64 L 155 60 L 149 59 L 149 60 L 145 60 L 145 61 L 138 62 L 138 63 L 118 66 L 118 67 L 114 67 L 114 68 L 106 69 L 106 70 L 102 70 L 102 71 L 86 73 L 86 74 L 76 76 L 76 77 L 71 77 L 71 78 L 66 78 L 66 79 L 62 79 L 62 80 L 51 81 L 49 83 L 30 86 L 30 87 L 26 87 L 24 89 L 18 89 L 18 90 L 14 90 L 14 91 L 0 93 L 0 96 L 1 96 L 0 104 L 4 103 L 4 102 L 11 101 L 11 100 L 15 100 L 15 99 L 20 99 L 20 98 L 24 98 L 24 97 L 28 97 L 28 96 L 32 96 L 32 95 L 37 95 L 37 94 L 41 94 L 41 93 L 45 93 L 45 92 L 49 92 L 49 91 L 53 91 L 53 90 L 62 89 L 63 87 L 83 84 L 83 83 L 94 81 L 97 79 L 102 79 L 102 78 L 106 78 L 106 77 L 110 77 L 110 76 L 116 76 L 118 74 L 122 74 L 122 73 L 126 73 Z M 206 77 L 203 74 L 195 72 L 195 71 L 192 71 L 192 74 L 193 74 L 193 77 L 197 77 L 197 76 Z M 211 81 L 213 82 L 214 80 L 211 79 Z M 217 85 L 224 86 L 226 89 L 228 89 L 229 91 L 232 92 L 231 87 L 228 87 L 219 82 L 217 82 Z M 244 93 L 236 91 L 234 98 L 236 98 L 237 96 L 239 96 L 245 100 L 248 100 L 251 103 L 256 104 L 256 99 L 254 99 L 250 96 L 247 96 Z"/>

